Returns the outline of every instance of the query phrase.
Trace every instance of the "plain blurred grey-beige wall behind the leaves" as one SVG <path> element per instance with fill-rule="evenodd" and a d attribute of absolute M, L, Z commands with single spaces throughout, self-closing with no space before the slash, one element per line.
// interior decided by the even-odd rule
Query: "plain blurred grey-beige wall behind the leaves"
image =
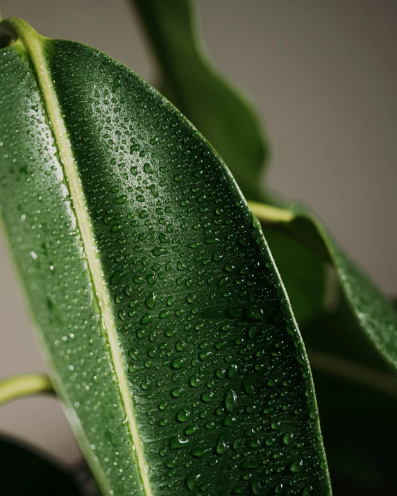
<path fill-rule="evenodd" d="M 199 3 L 212 58 L 251 95 L 267 128 L 271 187 L 311 205 L 380 287 L 397 294 L 397 2 Z M 0 8 L 4 18 L 94 46 L 155 82 L 126 0 L 0 0 Z M 0 377 L 44 370 L 1 234 L 0 316 Z M 51 397 L 1 408 L 0 432 L 78 459 Z"/>

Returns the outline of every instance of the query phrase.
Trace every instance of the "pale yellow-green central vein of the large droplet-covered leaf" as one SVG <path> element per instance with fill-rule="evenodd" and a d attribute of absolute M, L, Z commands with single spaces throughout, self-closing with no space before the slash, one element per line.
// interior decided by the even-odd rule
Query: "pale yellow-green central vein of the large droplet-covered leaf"
<path fill-rule="evenodd" d="M 142 442 L 140 440 L 140 432 L 135 419 L 133 405 L 128 388 L 128 382 L 121 359 L 121 350 L 119 347 L 119 342 L 117 340 L 117 331 L 112 314 L 110 297 L 108 291 L 106 291 L 105 289 L 101 262 L 98 256 L 98 248 L 96 247 L 94 234 L 91 228 L 90 217 L 85 205 L 83 187 L 81 185 L 76 164 L 74 162 L 73 153 L 71 151 L 69 136 L 67 134 L 62 114 L 60 113 L 58 97 L 49 76 L 47 61 L 45 60 L 42 53 L 42 41 L 40 40 L 38 35 L 35 34 L 25 37 L 25 42 L 30 52 L 33 65 L 35 66 L 37 78 L 40 83 L 44 102 L 46 104 L 49 121 L 52 126 L 53 134 L 56 138 L 58 153 L 63 165 L 65 177 L 67 179 L 69 193 L 78 221 L 78 228 L 80 229 L 81 238 L 83 240 L 85 255 L 87 256 L 87 264 L 90 269 L 92 284 L 94 286 L 96 298 L 98 299 L 101 308 L 101 317 L 103 319 L 103 325 L 108 337 L 110 354 L 112 356 L 112 364 L 115 369 L 115 375 L 119 384 L 121 400 L 123 402 L 124 411 L 126 413 L 128 421 L 128 428 L 133 441 L 133 458 L 136 458 L 137 460 L 137 465 L 140 472 L 140 478 L 142 481 L 142 486 L 144 487 L 145 495 L 153 496 L 149 479 L 149 467 L 144 456 Z"/>

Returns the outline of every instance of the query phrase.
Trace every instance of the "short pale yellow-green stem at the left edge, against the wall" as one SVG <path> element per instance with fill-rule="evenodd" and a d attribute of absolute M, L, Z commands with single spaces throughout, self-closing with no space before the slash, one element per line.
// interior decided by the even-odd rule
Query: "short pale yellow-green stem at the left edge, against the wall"
<path fill-rule="evenodd" d="M 53 393 L 53 386 L 47 375 L 22 374 L 7 377 L 0 381 L 0 406 L 19 398 Z"/>

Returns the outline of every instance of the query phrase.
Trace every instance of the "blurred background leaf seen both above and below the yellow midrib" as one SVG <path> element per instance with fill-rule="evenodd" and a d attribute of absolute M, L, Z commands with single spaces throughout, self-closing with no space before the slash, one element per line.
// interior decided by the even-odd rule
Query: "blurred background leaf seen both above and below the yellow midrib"
<path fill-rule="evenodd" d="M 216 148 L 246 198 L 278 205 L 262 187 L 269 144 L 260 119 L 248 98 L 230 85 L 210 60 L 202 39 L 198 2 L 133 0 L 133 4 L 160 66 L 160 91 Z M 296 319 L 305 323 L 323 306 L 323 264 L 301 246 L 296 247 L 292 264 L 288 237 L 271 232 L 268 241 Z"/>

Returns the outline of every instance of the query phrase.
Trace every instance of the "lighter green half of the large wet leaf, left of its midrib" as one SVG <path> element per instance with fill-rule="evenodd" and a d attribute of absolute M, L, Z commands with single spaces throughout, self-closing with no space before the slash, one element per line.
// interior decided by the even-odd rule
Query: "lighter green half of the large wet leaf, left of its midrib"
<path fill-rule="evenodd" d="M 0 50 L 0 213 L 73 425 L 117 490 L 141 490 L 90 271 L 35 71 L 16 45 Z M 24 343 L 21 343 L 21 347 Z M 54 431 L 53 436 L 57 433 Z"/>

